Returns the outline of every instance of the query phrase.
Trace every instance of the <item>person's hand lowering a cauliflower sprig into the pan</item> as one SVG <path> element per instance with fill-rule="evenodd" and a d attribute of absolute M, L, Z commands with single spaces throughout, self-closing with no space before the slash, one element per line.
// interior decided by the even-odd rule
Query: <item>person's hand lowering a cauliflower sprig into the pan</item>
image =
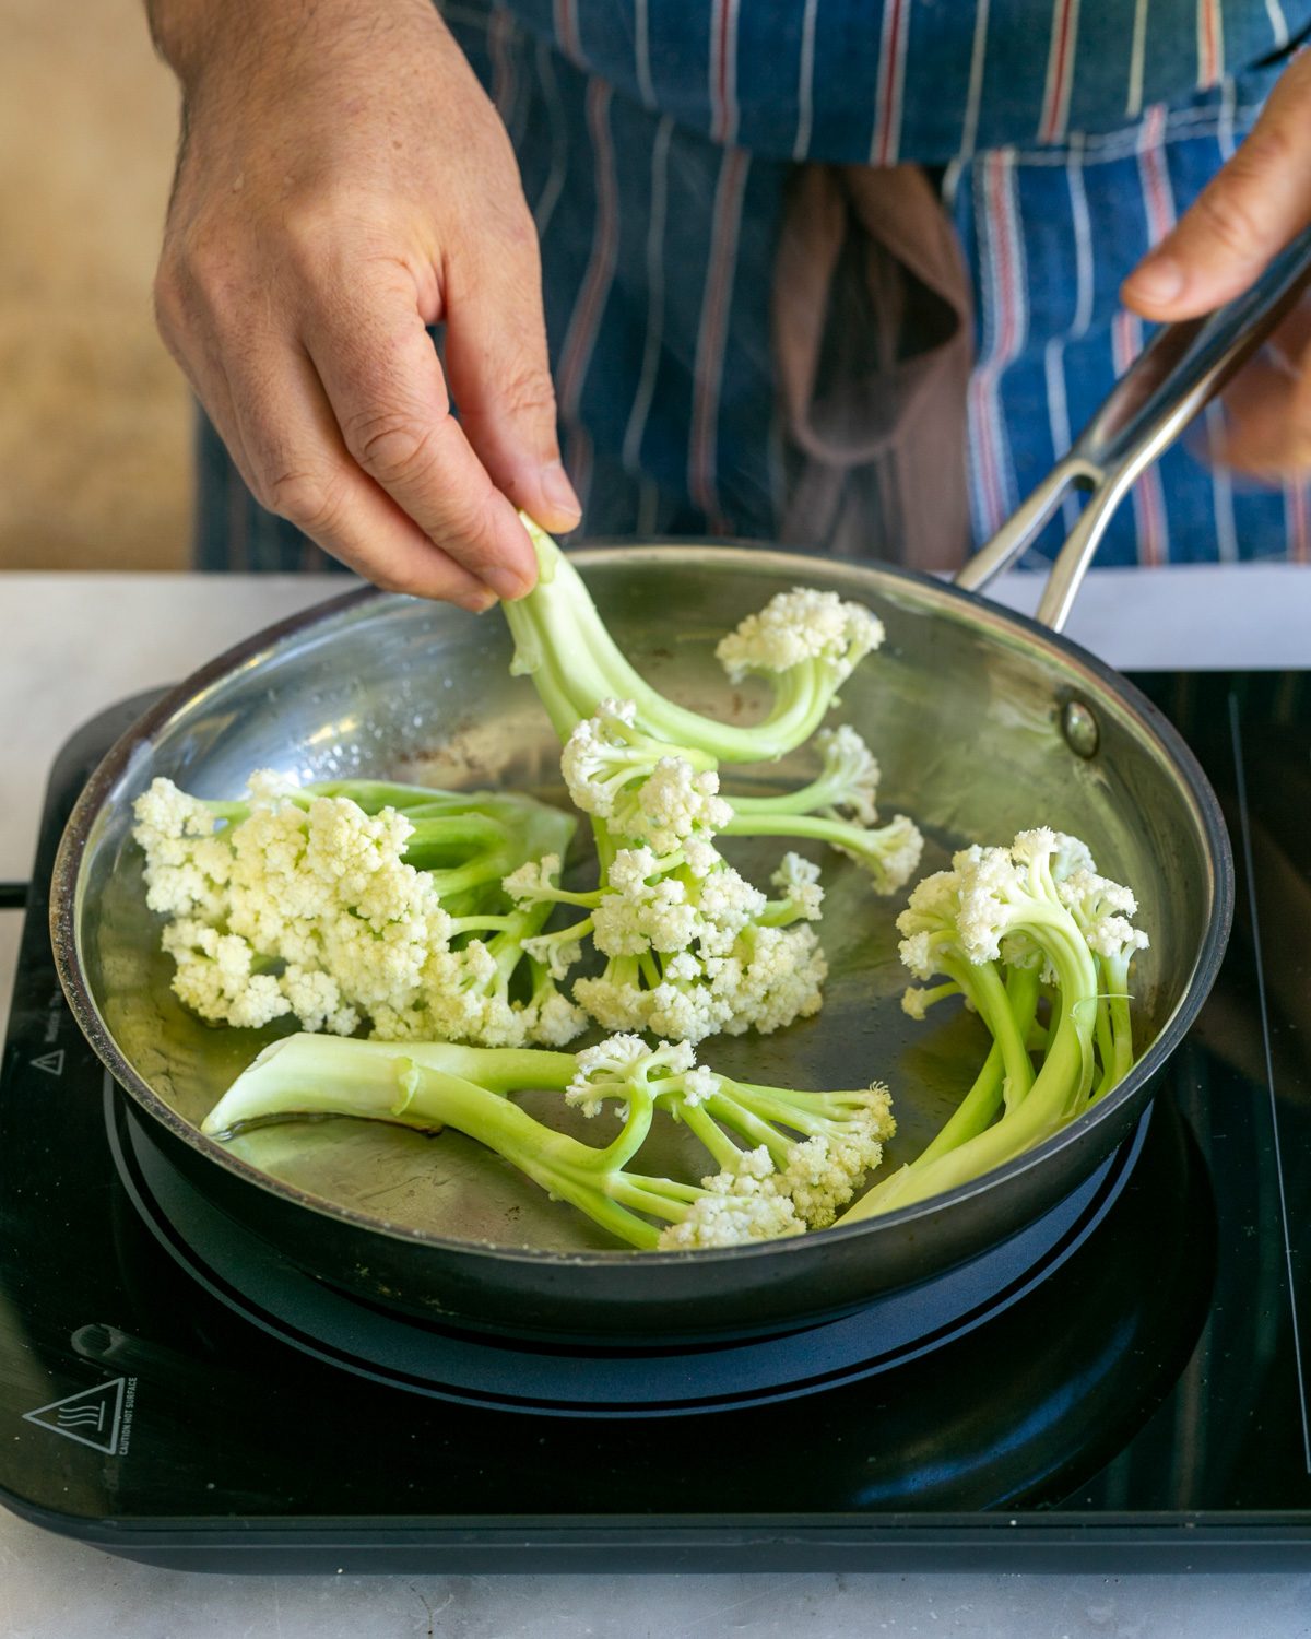
<path fill-rule="evenodd" d="M 184 143 L 156 310 L 246 484 L 382 587 L 475 610 L 528 592 L 515 508 L 578 521 L 538 238 L 431 0 L 167 8 Z"/>

